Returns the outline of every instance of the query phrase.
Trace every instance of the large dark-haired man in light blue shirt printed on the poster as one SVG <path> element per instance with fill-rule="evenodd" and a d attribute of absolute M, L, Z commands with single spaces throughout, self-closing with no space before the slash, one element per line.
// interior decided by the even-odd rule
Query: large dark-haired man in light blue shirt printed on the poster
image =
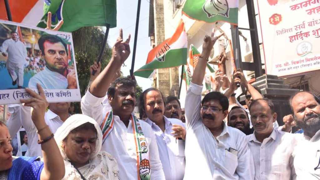
<path fill-rule="evenodd" d="M 39 83 L 44 89 L 76 89 L 75 71 L 68 70 L 66 43 L 56 35 L 45 34 L 38 40 L 46 67 L 29 80 L 29 88 Z"/>

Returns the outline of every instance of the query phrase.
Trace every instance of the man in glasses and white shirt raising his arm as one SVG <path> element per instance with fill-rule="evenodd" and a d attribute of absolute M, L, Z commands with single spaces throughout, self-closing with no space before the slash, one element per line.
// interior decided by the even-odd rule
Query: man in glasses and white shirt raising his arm
<path fill-rule="evenodd" d="M 254 178 L 254 165 L 245 134 L 223 122 L 228 114 L 228 98 L 220 92 L 210 92 L 201 101 L 206 64 L 219 37 L 214 33 L 204 37 L 202 55 L 186 95 L 184 179 L 250 180 Z"/>

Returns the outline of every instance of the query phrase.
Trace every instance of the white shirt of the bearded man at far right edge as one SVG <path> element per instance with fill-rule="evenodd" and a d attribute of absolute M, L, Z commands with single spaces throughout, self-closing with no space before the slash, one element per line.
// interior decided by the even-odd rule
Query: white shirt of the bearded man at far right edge
<path fill-rule="evenodd" d="M 293 166 L 297 180 L 320 179 L 320 130 L 310 139 L 303 134 L 295 134 L 300 141 L 293 151 Z"/>

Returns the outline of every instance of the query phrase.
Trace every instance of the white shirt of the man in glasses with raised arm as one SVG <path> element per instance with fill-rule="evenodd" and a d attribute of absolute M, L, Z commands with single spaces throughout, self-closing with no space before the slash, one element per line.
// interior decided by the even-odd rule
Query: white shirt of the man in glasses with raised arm
<path fill-rule="evenodd" d="M 245 134 L 223 123 L 223 131 L 215 138 L 202 123 L 201 91 L 202 86 L 190 83 L 186 95 L 184 179 L 253 179 L 254 163 Z M 229 148 L 237 153 L 228 151 Z"/>

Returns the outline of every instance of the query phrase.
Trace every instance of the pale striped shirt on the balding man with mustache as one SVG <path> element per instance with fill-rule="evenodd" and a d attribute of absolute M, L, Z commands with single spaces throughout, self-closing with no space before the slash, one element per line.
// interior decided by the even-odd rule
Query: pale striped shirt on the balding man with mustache
<path fill-rule="evenodd" d="M 253 156 L 256 180 L 290 180 L 294 177 L 292 151 L 297 141 L 294 135 L 273 129 L 260 143 L 255 134 L 247 135 Z"/>

